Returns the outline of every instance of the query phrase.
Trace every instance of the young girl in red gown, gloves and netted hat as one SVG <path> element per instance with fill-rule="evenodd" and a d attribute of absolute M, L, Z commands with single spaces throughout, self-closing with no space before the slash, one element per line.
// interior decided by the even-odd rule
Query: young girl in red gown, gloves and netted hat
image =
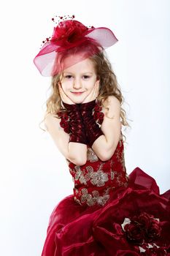
<path fill-rule="evenodd" d="M 42 256 L 170 255 L 170 190 L 125 169 L 123 95 L 104 49 L 117 38 L 74 17 L 54 28 L 34 58 L 52 76 L 45 124 L 74 181 L 55 206 Z"/>

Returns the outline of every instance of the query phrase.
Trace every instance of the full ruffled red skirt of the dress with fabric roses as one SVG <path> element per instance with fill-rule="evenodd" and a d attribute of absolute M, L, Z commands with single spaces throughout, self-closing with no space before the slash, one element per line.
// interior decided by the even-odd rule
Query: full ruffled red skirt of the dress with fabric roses
<path fill-rule="evenodd" d="M 170 255 L 169 198 L 139 167 L 105 206 L 80 206 L 69 195 L 50 216 L 42 256 Z"/>

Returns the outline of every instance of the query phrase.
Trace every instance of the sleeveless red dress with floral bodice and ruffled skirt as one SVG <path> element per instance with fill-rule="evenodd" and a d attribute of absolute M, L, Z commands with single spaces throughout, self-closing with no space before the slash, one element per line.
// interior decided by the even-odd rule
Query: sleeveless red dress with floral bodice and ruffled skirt
<path fill-rule="evenodd" d="M 50 215 L 42 256 L 170 255 L 170 189 L 160 195 L 139 167 L 127 175 L 122 133 L 111 159 L 87 154 L 67 159 L 74 195 Z"/>

